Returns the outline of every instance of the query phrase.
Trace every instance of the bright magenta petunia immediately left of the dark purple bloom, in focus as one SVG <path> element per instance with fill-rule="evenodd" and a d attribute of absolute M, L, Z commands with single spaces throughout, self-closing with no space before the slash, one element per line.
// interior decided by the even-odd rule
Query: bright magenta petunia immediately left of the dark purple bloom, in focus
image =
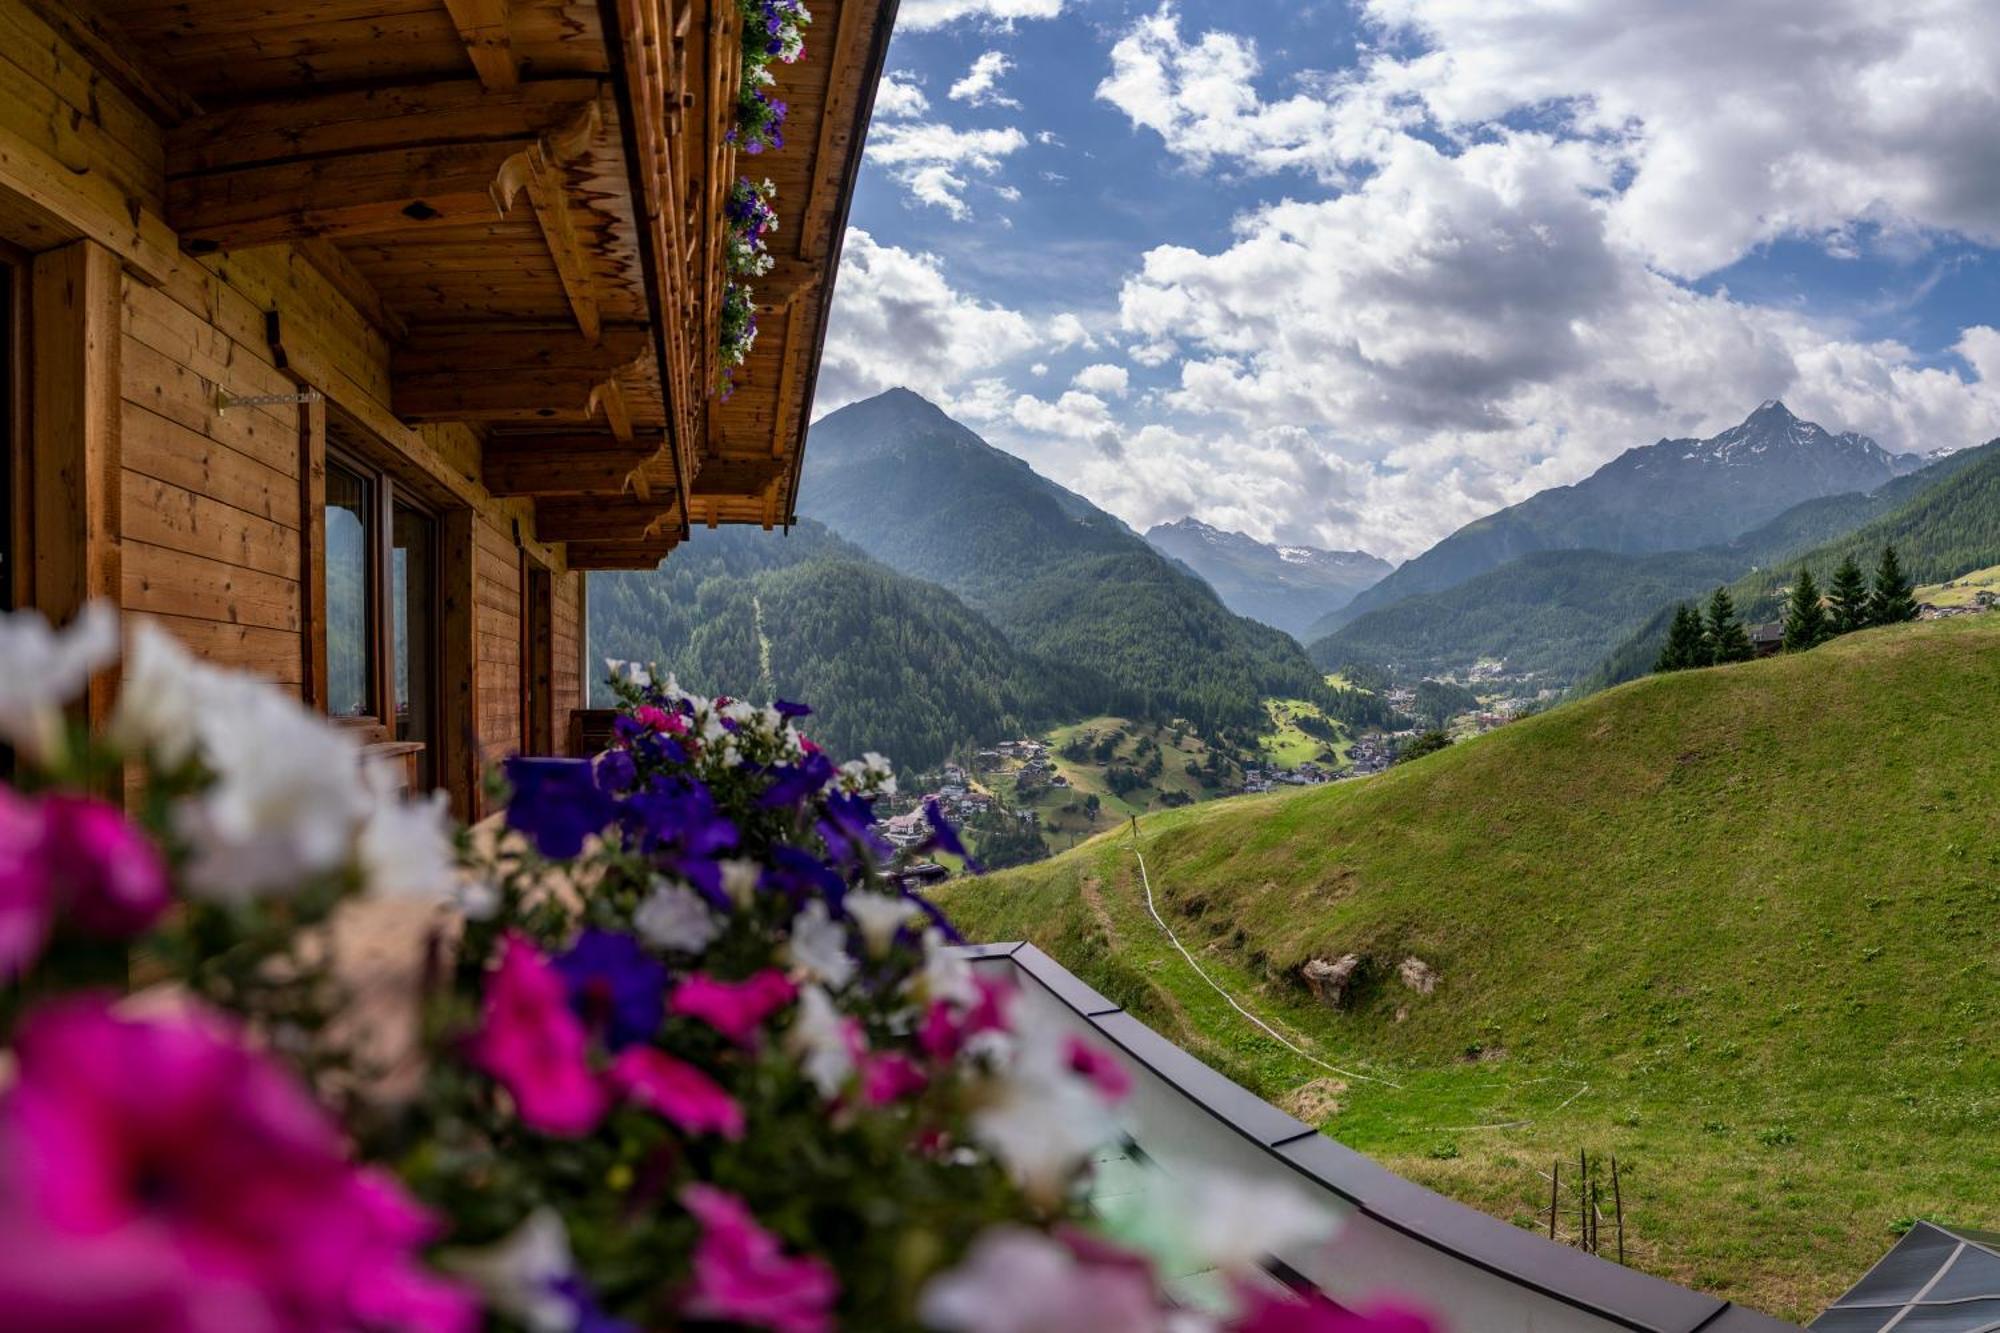
<path fill-rule="evenodd" d="M 548 1135 L 590 1133 L 610 1101 L 590 1071 L 590 1035 L 570 1009 L 568 987 L 512 931 L 486 981 L 486 1021 L 472 1041 L 472 1063 L 514 1095 L 524 1125 Z"/>

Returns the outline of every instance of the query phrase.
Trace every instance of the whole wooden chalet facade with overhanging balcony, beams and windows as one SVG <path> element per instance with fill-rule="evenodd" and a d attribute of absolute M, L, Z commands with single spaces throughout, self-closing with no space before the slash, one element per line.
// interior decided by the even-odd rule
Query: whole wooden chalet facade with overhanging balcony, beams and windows
<path fill-rule="evenodd" d="M 794 516 L 894 0 L 812 8 L 738 164 L 736 0 L 0 0 L 6 604 L 156 616 L 474 815 L 564 747 L 582 570 Z"/>

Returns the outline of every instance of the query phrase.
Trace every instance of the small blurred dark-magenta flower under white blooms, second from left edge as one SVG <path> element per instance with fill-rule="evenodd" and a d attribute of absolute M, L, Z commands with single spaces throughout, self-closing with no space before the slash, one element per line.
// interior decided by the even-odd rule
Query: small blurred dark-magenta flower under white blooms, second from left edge
<path fill-rule="evenodd" d="M 48 875 L 62 919 L 86 935 L 126 939 L 166 911 L 166 861 L 124 811 L 96 797 L 42 799 Z"/>

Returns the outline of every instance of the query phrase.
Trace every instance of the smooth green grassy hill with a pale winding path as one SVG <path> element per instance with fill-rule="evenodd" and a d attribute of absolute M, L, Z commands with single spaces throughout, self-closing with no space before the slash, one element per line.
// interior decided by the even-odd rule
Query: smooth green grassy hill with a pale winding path
<path fill-rule="evenodd" d="M 1128 833 L 948 907 L 1522 1225 L 1552 1159 L 1616 1153 L 1638 1267 L 1802 1319 L 1904 1219 L 2000 1225 L 1994 699 L 2000 616 L 1912 624 L 1142 819 L 1160 911 L 1342 1077 L 1166 947 Z M 1368 963 L 1336 1013 L 1298 969 L 1344 953 Z"/>

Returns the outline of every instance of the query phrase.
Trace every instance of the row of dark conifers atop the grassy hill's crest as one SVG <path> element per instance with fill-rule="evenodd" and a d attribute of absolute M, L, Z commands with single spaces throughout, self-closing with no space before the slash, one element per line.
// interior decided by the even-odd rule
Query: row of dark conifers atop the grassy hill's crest
<path fill-rule="evenodd" d="M 1826 590 L 1810 566 L 1800 566 L 1784 604 L 1786 652 L 1806 652 L 1828 638 L 1852 634 L 1876 624 L 1902 624 L 1916 618 L 1916 588 L 1902 568 L 1894 546 L 1882 548 L 1874 582 L 1862 574 L 1852 554 L 1834 568 Z M 1750 632 L 1736 616 L 1736 600 L 1728 588 L 1716 588 L 1706 606 L 1680 602 L 1666 630 L 1666 644 L 1654 671 L 1690 671 L 1748 662 L 1756 656 Z"/>

